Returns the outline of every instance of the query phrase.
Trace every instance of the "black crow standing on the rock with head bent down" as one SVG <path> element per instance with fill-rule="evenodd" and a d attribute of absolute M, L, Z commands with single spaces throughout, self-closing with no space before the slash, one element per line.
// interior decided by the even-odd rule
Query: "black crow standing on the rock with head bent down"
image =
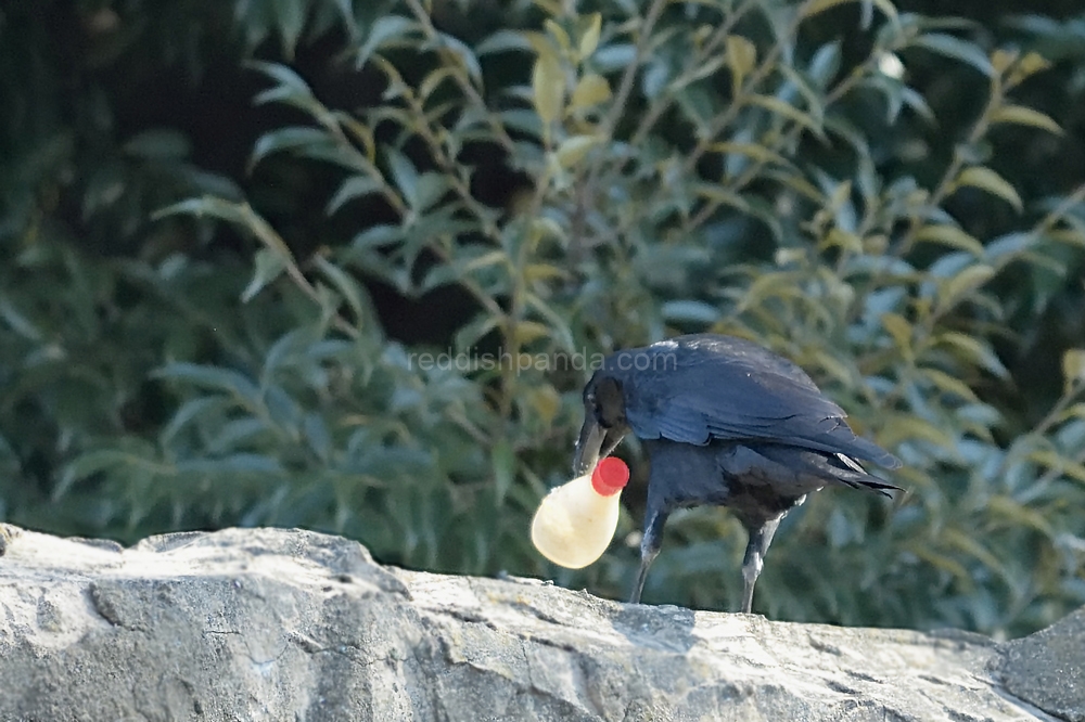
<path fill-rule="evenodd" d="M 802 369 L 741 338 L 678 336 L 618 351 L 584 388 L 584 427 L 573 470 L 587 474 L 633 433 L 648 451 L 648 506 L 631 602 L 660 553 L 675 508 L 717 504 L 750 532 L 742 562 L 742 610 L 780 520 L 826 485 L 897 489 L 857 460 L 888 468 L 895 456 L 859 438 L 844 411 Z M 888 494 L 886 494 L 888 495 Z"/>

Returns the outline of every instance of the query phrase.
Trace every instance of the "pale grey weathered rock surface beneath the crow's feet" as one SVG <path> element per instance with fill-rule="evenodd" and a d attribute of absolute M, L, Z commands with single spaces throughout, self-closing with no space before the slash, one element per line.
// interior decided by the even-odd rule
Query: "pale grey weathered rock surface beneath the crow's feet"
<path fill-rule="evenodd" d="M 4 721 L 1085 720 L 1085 610 L 996 645 L 411 572 L 307 531 L 12 527 L 0 607 Z"/>

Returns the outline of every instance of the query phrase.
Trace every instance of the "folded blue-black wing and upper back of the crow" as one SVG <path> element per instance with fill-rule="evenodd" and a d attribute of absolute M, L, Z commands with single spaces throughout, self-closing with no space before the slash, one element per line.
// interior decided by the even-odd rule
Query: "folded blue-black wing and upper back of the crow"
<path fill-rule="evenodd" d="M 681 336 L 621 351 L 605 366 L 622 379 L 626 420 L 640 438 L 769 441 L 899 465 L 855 436 L 802 369 L 756 344 Z"/>

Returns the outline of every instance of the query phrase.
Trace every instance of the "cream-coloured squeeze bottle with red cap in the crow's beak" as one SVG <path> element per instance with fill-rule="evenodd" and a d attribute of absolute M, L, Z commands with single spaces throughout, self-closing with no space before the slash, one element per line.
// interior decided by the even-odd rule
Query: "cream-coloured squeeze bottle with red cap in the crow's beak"
<path fill-rule="evenodd" d="M 629 467 L 608 456 L 590 475 L 547 494 L 532 520 L 532 543 L 542 556 L 569 569 L 586 567 L 607 551 L 617 528 L 618 498 Z"/>

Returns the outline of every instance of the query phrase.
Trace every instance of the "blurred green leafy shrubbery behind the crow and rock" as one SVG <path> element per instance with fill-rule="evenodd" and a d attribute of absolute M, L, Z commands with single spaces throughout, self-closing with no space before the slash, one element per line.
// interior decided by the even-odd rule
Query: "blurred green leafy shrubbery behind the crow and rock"
<path fill-rule="evenodd" d="M 0 519 L 301 526 L 622 598 L 635 443 L 603 559 L 526 532 L 586 372 L 411 354 L 715 331 L 906 464 L 792 514 L 758 611 L 1085 604 L 1076 0 L 7 0 L 0 158 Z M 736 608 L 738 523 L 667 537 L 644 601 Z"/>

